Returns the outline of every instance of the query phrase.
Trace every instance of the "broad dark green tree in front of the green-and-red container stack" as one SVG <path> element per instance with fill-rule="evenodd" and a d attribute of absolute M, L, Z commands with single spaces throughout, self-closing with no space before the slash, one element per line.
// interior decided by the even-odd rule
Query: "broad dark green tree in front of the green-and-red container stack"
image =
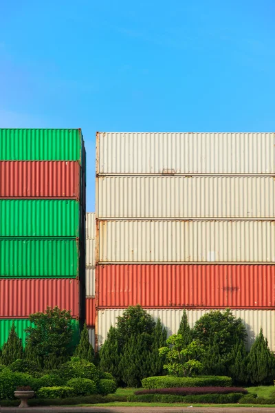
<path fill-rule="evenodd" d="M 30 321 L 34 327 L 26 329 L 28 351 L 32 348 L 43 368 L 58 368 L 72 355 L 71 313 L 58 307 L 47 307 L 45 313 L 30 315 Z M 27 354 L 27 357 L 30 357 L 30 354 Z"/>

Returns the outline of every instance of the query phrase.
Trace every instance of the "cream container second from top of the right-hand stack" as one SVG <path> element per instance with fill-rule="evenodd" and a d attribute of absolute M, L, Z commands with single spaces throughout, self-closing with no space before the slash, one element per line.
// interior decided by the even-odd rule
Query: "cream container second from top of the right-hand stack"
<path fill-rule="evenodd" d="M 98 218 L 274 218 L 273 177 L 97 178 Z"/>

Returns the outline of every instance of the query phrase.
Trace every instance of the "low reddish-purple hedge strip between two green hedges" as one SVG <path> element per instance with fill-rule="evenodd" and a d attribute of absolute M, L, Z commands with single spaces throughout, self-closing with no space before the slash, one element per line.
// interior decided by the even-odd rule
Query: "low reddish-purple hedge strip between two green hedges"
<path fill-rule="evenodd" d="M 170 389 L 148 389 L 137 390 L 136 395 L 140 394 L 174 394 L 177 396 L 187 396 L 189 394 L 248 394 L 248 390 L 243 388 L 222 388 L 222 387 L 194 387 L 194 388 L 170 388 Z"/>

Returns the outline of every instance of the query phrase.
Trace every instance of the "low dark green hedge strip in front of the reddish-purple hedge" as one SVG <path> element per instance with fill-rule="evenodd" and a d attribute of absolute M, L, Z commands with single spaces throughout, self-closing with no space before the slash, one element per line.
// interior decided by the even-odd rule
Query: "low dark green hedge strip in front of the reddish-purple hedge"
<path fill-rule="evenodd" d="M 227 404 L 238 403 L 243 394 L 193 394 L 189 396 L 177 396 L 174 394 L 140 394 L 128 396 L 127 401 L 141 403 L 207 403 Z"/>

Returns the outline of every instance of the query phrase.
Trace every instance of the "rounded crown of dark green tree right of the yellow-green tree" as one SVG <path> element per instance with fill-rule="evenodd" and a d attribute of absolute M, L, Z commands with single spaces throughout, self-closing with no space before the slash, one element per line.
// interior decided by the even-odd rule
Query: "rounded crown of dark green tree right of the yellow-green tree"
<path fill-rule="evenodd" d="M 215 342 L 219 346 L 219 354 L 229 354 L 239 341 L 245 341 L 247 334 L 240 318 L 234 317 L 230 309 L 225 311 L 210 311 L 203 315 L 195 324 L 193 338 L 206 348 Z"/>

